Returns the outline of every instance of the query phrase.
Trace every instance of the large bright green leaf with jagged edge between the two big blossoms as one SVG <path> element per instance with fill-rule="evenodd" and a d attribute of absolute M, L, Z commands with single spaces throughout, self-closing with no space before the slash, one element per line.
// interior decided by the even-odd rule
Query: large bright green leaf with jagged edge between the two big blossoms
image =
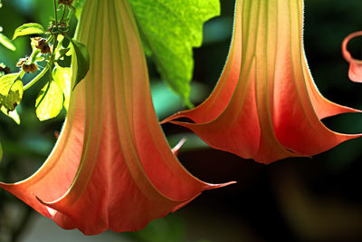
<path fill-rule="evenodd" d="M 168 86 L 190 106 L 192 48 L 202 44 L 203 24 L 220 15 L 219 0 L 130 0 L 141 38 Z"/>

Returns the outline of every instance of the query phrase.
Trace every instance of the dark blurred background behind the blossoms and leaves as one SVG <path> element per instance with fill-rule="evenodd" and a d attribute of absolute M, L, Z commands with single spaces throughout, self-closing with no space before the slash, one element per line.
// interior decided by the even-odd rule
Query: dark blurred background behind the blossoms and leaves
<path fill-rule="evenodd" d="M 214 88 L 228 52 L 233 24 L 233 0 L 222 0 L 222 15 L 205 24 L 205 41 L 195 49 L 192 101 L 202 102 Z M 348 34 L 362 30 L 362 1 L 306 0 L 305 50 L 319 91 L 333 102 L 362 109 L 362 84 L 348 80 L 348 63 L 340 44 Z M 47 23 L 52 1 L 3 0 L 0 25 L 11 37 L 26 22 Z M 0 46 L 0 62 L 10 66 L 29 54 L 26 38 L 16 40 L 16 52 Z M 362 38 L 349 45 L 359 58 Z M 149 62 L 152 92 L 160 119 L 183 108 L 182 102 L 159 81 Z M 41 87 L 35 87 L 38 90 Z M 65 112 L 52 121 L 37 121 L 36 92 L 21 105 L 21 125 L 0 114 L 0 142 L 4 159 L 0 179 L 25 179 L 52 150 Z M 169 105 L 164 106 L 164 100 Z M 343 114 L 324 121 L 333 131 L 362 132 L 361 114 Z M 206 191 L 186 208 L 153 221 L 137 233 L 104 233 L 84 237 L 65 231 L 42 218 L 11 194 L 0 191 L 0 241 L 362 241 L 362 139 L 350 140 L 312 159 L 279 160 L 265 166 L 232 154 L 211 150 L 185 129 L 163 126 L 174 145 L 188 142 L 179 160 L 196 177 L 208 182 L 238 183 Z"/>

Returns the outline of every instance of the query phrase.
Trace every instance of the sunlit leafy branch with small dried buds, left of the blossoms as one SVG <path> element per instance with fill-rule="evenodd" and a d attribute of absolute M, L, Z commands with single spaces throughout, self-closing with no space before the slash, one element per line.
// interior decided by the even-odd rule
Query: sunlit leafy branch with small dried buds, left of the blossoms
<path fill-rule="evenodd" d="M 24 92 L 38 86 L 35 85 L 38 82 L 43 83 L 35 101 L 35 113 L 40 121 L 58 116 L 63 108 L 68 110 L 71 68 L 61 66 L 60 62 L 65 58 L 72 56 L 77 60 L 73 89 L 88 73 L 90 60 L 87 47 L 68 34 L 71 15 L 76 12 L 72 2 L 53 0 L 54 16 L 47 30 L 41 24 L 27 23 L 15 29 L 11 41 L 0 34 L 0 44 L 11 50 L 15 48 L 12 41 L 22 36 L 35 35 L 30 38 L 32 53 L 19 60 L 16 64 L 19 68 L 17 72 L 11 73 L 9 67 L 0 63 L 0 110 L 17 124 L 20 124 L 20 117 L 16 109 L 23 100 Z M 31 75 L 31 80 L 25 83 L 24 77 L 29 73 L 36 74 Z M 0 160 L 2 154 L 0 146 Z"/>

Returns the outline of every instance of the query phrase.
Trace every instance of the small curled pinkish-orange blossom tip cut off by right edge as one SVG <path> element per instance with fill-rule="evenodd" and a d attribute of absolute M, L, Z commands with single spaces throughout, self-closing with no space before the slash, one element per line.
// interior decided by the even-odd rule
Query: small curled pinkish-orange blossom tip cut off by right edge
<path fill-rule="evenodd" d="M 358 31 L 352 34 L 349 34 L 342 43 L 342 53 L 346 61 L 349 63 L 349 79 L 353 82 L 362 82 L 362 60 L 357 60 L 352 57 L 348 52 L 347 45 L 348 42 L 358 36 L 362 36 L 362 31 Z"/>

